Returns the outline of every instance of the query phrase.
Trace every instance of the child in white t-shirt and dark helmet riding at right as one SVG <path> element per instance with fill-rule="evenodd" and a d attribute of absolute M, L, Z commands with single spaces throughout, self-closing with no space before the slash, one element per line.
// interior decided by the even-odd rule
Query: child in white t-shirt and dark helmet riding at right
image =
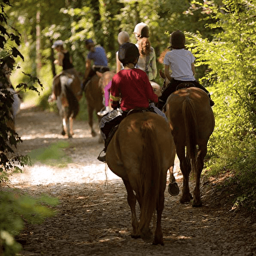
<path fill-rule="evenodd" d="M 170 52 L 165 54 L 163 63 L 165 64 L 165 76 L 170 81 L 170 84 L 163 90 L 157 107 L 162 109 L 165 105 L 168 96 L 176 91 L 179 84 L 190 82 L 195 87 L 204 90 L 209 98 L 210 93 L 204 86 L 200 85 L 195 79 L 195 57 L 189 50 L 185 50 L 185 35 L 182 31 L 177 30 L 170 35 Z M 169 69 L 172 73 L 170 74 Z M 210 105 L 214 105 L 214 101 L 210 99 Z"/>

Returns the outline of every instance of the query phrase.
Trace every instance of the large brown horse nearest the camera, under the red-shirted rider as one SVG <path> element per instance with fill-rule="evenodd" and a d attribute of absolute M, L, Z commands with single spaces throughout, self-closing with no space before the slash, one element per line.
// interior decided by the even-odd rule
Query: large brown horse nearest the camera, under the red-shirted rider
<path fill-rule="evenodd" d="M 175 146 L 170 127 L 164 118 L 152 113 L 135 113 L 121 121 L 106 150 L 106 163 L 122 178 L 131 208 L 133 238 L 152 241 L 150 221 L 157 210 L 153 244 L 163 245 L 161 214 L 167 170 L 174 165 Z M 135 193 L 136 195 L 135 195 Z M 136 218 L 136 200 L 140 220 Z"/>

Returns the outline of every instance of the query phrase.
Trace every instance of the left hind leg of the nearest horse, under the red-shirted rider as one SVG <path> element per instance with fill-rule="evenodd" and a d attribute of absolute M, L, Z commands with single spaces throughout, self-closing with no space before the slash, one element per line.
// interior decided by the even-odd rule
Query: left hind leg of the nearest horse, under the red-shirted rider
<path fill-rule="evenodd" d="M 133 193 L 133 188 L 131 187 L 131 184 L 127 180 L 123 180 L 123 184 L 125 184 L 125 188 L 127 191 L 127 202 L 131 208 L 131 225 L 133 226 L 133 231 L 131 232 L 132 238 L 140 238 L 140 231 L 138 229 L 138 220 L 136 217 L 136 196 Z"/>

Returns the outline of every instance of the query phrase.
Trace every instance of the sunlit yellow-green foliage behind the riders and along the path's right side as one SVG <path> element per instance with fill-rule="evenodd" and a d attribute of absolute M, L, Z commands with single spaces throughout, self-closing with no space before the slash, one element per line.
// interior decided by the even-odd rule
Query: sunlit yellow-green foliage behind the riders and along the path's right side
<path fill-rule="evenodd" d="M 92 38 L 107 53 L 110 67 L 115 70 L 118 33 L 127 31 L 136 42 L 133 29 L 138 22 L 150 27 L 150 42 L 157 58 L 167 49 L 168 36 L 176 29 L 186 31 L 189 48 L 197 58 L 197 78 L 208 87 L 215 101 L 216 128 L 210 138 L 207 168 L 212 173 L 237 169 L 244 155 L 253 166 L 253 153 L 247 150 L 255 143 L 255 0 L 56 0 L 14 1 L 8 9 L 12 26 L 17 27 L 24 42 L 27 59 L 21 65 L 25 73 L 36 74 L 36 30 L 40 13 L 40 54 L 44 95 L 37 104 L 49 105 L 51 91 L 50 67 L 53 63 L 52 42 L 62 39 L 71 51 L 74 67 L 84 74 L 88 54 L 84 40 Z M 18 19 L 16 18 L 18 17 Z M 29 46 L 29 47 L 28 47 Z M 162 63 L 157 63 L 163 69 Z M 57 69 L 57 72 L 59 70 Z M 18 83 L 24 76 L 16 76 Z M 161 79 L 157 78 L 161 83 Z M 83 99 L 78 118 L 86 119 Z M 244 179 L 245 180 L 245 179 Z"/>

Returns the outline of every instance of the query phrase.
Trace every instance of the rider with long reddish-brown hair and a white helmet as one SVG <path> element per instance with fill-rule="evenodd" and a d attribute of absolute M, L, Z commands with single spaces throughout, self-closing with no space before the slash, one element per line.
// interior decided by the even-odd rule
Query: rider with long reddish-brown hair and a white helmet
<path fill-rule="evenodd" d="M 140 22 L 135 26 L 136 46 L 140 52 L 140 57 L 136 64 L 137 69 L 142 69 L 148 75 L 148 79 L 152 81 L 157 76 L 157 64 L 155 61 L 155 50 L 150 44 L 150 29 L 147 24 Z"/>

